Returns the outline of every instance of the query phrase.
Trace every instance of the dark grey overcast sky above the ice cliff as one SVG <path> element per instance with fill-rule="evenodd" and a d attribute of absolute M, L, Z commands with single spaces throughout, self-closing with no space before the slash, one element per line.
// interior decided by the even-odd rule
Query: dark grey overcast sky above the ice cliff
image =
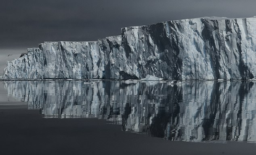
<path fill-rule="evenodd" d="M 120 35 L 128 26 L 201 16 L 251 17 L 255 6 L 256 0 L 1 0 L 0 58 L 44 41 Z"/>

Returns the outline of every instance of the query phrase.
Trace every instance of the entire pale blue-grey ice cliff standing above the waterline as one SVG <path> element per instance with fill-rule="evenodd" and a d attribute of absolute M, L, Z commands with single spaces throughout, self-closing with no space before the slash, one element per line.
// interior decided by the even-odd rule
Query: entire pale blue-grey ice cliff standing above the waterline
<path fill-rule="evenodd" d="M 256 18 L 202 17 L 125 27 L 91 42 L 45 42 L 7 62 L 8 79 L 249 80 Z"/>

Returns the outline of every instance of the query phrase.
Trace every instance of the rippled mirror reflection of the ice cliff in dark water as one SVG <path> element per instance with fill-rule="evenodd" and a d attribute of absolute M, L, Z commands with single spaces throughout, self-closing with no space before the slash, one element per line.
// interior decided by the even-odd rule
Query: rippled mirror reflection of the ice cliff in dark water
<path fill-rule="evenodd" d="M 46 118 L 97 117 L 174 141 L 256 141 L 253 82 L 6 81 Z"/>

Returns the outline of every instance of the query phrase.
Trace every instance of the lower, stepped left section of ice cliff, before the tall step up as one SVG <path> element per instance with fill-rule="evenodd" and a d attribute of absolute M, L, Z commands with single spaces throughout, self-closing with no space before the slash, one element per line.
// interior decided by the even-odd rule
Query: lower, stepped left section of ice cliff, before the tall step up
<path fill-rule="evenodd" d="M 39 48 L 7 62 L 10 79 L 110 79 L 119 78 L 124 63 L 121 37 L 91 42 L 44 42 Z M 111 60 L 111 61 L 109 61 Z M 120 60 L 120 61 L 117 61 Z M 114 68 L 114 69 L 111 69 Z"/>

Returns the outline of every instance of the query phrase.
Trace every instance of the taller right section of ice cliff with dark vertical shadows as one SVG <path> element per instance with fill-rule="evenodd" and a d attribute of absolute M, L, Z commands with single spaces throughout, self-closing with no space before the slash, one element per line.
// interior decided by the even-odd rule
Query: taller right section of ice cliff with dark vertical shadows
<path fill-rule="evenodd" d="M 255 18 L 195 18 L 122 29 L 132 74 L 164 79 L 255 77 Z"/>

